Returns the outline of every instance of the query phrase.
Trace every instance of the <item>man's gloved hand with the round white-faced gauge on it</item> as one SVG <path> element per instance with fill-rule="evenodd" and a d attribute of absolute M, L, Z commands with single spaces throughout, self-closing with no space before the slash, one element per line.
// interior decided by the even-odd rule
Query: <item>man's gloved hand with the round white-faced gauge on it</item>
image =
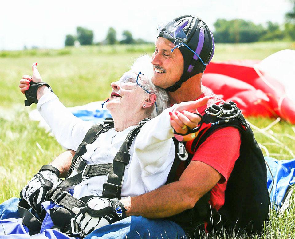
<path fill-rule="evenodd" d="M 81 234 L 88 235 L 98 228 L 125 218 L 125 211 L 124 205 L 116 198 L 93 197 L 80 210 L 75 221 L 81 228 Z"/>

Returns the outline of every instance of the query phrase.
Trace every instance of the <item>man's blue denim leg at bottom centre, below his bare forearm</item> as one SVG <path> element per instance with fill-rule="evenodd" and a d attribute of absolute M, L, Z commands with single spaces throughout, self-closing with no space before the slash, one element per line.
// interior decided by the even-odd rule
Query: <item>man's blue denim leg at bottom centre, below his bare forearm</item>
<path fill-rule="evenodd" d="M 183 229 L 172 221 L 131 216 L 97 229 L 90 233 L 85 239 L 123 239 L 126 237 L 132 239 L 186 238 Z"/>

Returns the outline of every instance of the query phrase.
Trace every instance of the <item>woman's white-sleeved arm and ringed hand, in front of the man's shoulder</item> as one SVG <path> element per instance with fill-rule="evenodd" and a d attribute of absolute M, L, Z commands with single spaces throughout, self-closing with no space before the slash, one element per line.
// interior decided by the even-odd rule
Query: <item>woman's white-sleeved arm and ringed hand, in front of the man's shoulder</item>
<path fill-rule="evenodd" d="M 204 97 L 175 104 L 142 126 L 135 140 L 135 153 L 146 174 L 159 171 L 167 160 L 173 161 L 174 158 L 171 159 L 168 155 L 174 147 L 174 131 L 185 134 L 187 127 L 195 128 L 201 118 L 191 112 L 198 112 L 197 108 L 205 105 L 207 101 L 208 98 Z M 185 130 L 182 128 L 184 125 Z"/>

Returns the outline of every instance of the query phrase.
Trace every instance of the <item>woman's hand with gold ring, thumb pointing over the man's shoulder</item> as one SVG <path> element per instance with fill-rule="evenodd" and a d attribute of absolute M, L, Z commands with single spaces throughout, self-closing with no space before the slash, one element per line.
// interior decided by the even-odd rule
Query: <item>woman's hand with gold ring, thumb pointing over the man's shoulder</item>
<path fill-rule="evenodd" d="M 187 134 L 188 128 L 194 129 L 201 121 L 197 108 L 206 105 L 208 97 L 203 97 L 196 101 L 181 102 L 170 114 L 170 124 L 176 133 Z"/>

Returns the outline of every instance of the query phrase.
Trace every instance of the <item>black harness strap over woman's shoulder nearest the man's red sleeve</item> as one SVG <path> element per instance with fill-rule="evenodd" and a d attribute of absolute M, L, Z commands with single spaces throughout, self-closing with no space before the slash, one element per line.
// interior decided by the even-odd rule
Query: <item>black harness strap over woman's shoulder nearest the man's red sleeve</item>
<path fill-rule="evenodd" d="M 116 154 L 113 160 L 113 167 L 108 175 L 107 182 L 103 186 L 103 196 L 105 198 L 121 198 L 121 188 L 124 181 L 124 172 L 126 165 L 129 164 L 130 154 L 129 149 L 131 147 L 133 139 L 139 133 L 143 123 L 132 129 L 127 138 L 121 145 L 119 152 Z"/>

